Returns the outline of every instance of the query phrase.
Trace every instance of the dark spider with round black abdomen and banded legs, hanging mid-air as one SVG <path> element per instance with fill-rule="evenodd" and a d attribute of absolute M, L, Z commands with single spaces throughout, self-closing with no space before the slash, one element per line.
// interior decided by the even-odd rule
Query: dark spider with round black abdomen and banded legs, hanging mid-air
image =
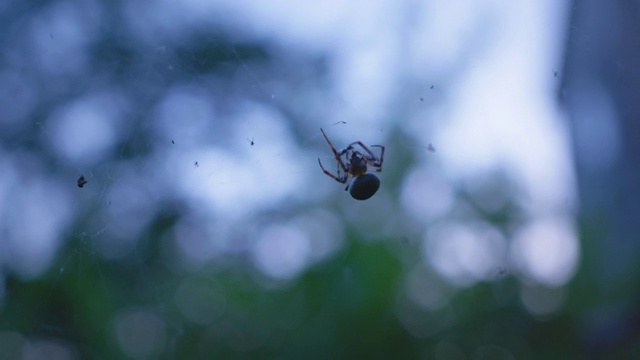
<path fill-rule="evenodd" d="M 320 131 L 322 132 L 324 139 L 327 140 L 327 143 L 329 144 L 329 147 L 331 147 L 331 151 L 333 151 L 333 155 L 336 157 L 336 161 L 338 162 L 338 170 L 336 171 L 337 175 L 334 175 L 327 171 L 324 166 L 322 166 L 320 159 L 318 159 L 318 164 L 320 164 L 322 171 L 327 176 L 330 176 L 335 181 L 342 184 L 347 184 L 349 178 L 353 177 L 353 181 L 350 184 L 347 184 L 347 187 L 345 187 L 344 190 L 347 191 L 349 190 L 349 187 L 351 187 L 349 193 L 354 199 L 367 200 L 372 197 L 380 187 L 380 180 L 374 174 L 367 172 L 367 166 L 371 166 L 377 172 L 382 171 L 384 146 L 371 145 L 371 147 L 380 148 L 380 157 L 374 155 L 373 152 L 361 141 L 354 141 L 346 148 L 338 151 L 333 144 L 331 144 L 331 141 L 329 141 L 324 130 L 321 128 Z M 364 151 L 356 150 L 356 145 L 360 146 Z M 344 160 L 342 158 L 343 156 Z M 342 175 L 340 174 L 341 171 Z"/>

